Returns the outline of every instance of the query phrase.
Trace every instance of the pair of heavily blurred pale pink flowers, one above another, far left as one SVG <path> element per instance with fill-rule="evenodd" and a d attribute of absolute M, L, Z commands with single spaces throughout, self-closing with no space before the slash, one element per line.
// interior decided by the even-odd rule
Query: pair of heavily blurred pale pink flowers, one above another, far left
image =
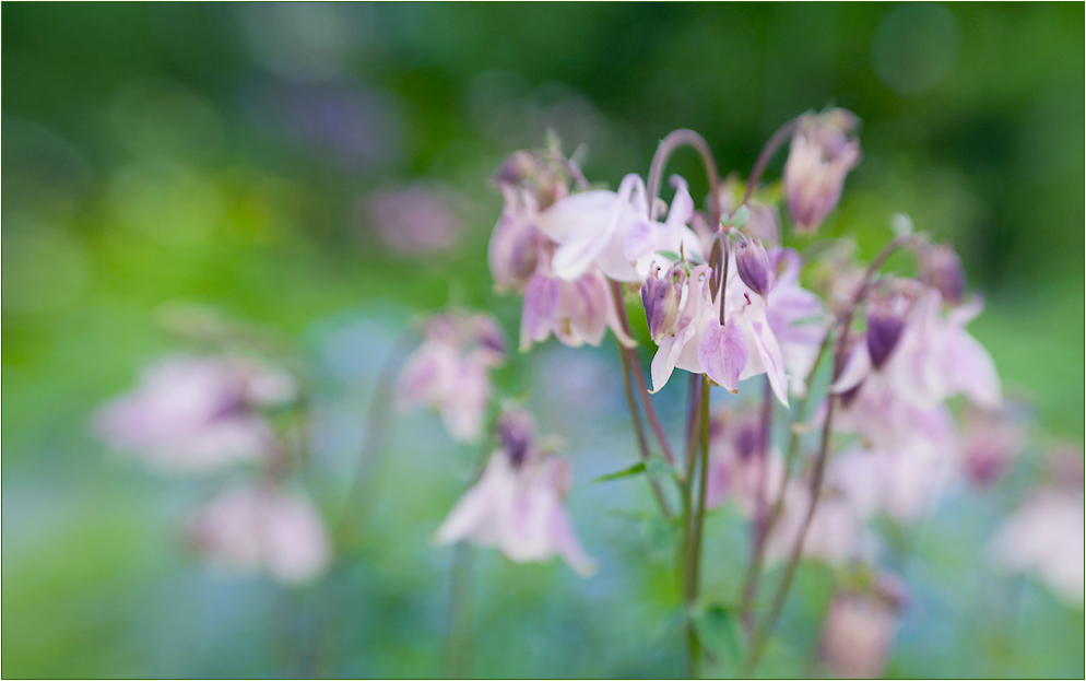
<path fill-rule="evenodd" d="M 261 362 L 178 355 L 145 368 L 139 387 L 99 410 L 95 430 L 167 474 L 256 467 L 260 480 L 228 482 L 191 516 L 186 535 L 212 564 L 305 582 L 323 572 L 331 544 L 312 503 L 287 490 L 288 454 L 264 413 L 297 392 L 290 374 Z"/>

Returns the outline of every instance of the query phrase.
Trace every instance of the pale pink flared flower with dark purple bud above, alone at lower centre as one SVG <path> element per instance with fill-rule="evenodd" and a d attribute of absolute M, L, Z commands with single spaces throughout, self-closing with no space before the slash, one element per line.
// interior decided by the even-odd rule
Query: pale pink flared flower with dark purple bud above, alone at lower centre
<path fill-rule="evenodd" d="M 497 547 L 517 563 L 557 554 L 577 574 L 590 576 L 595 564 L 581 548 L 562 504 L 569 488 L 569 465 L 539 448 L 530 424 L 523 412 L 503 415 L 498 449 L 479 482 L 438 528 L 437 541 L 468 539 Z"/>

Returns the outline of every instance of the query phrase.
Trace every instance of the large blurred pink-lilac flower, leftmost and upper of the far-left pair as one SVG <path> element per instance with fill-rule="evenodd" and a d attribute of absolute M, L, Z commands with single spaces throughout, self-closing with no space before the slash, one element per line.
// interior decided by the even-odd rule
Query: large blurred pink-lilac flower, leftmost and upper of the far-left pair
<path fill-rule="evenodd" d="M 248 360 L 174 356 L 106 404 L 95 430 L 111 447 L 168 473 L 205 473 L 259 461 L 275 447 L 262 406 L 293 399 L 294 380 Z"/>

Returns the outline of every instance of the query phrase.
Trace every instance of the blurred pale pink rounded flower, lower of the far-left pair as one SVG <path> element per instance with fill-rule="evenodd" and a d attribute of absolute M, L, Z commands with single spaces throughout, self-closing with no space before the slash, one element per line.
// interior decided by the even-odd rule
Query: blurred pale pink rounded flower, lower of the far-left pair
<path fill-rule="evenodd" d="M 264 572 L 284 584 L 317 577 L 331 559 L 314 505 L 268 486 L 226 490 L 189 519 L 186 533 L 213 565 Z"/>

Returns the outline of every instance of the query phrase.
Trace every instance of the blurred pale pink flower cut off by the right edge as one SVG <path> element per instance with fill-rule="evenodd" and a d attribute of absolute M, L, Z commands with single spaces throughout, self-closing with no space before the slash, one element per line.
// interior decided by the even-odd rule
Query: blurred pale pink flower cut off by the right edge
<path fill-rule="evenodd" d="M 1010 572 L 1036 574 L 1060 598 L 1081 608 L 1084 513 L 1082 486 L 1042 488 L 1004 521 L 989 555 Z"/>

